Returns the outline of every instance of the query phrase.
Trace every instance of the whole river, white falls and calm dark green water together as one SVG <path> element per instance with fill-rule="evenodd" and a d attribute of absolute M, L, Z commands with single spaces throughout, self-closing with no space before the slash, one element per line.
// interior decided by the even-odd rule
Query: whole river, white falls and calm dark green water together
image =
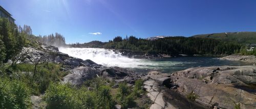
<path fill-rule="evenodd" d="M 131 59 L 110 49 L 103 48 L 59 48 L 60 52 L 82 60 L 90 59 L 104 66 L 117 66 L 144 73 L 148 71 L 161 71 L 173 73 L 190 67 L 207 66 L 244 66 L 252 65 L 246 62 L 219 60 L 220 57 L 176 57 L 163 59 Z"/>

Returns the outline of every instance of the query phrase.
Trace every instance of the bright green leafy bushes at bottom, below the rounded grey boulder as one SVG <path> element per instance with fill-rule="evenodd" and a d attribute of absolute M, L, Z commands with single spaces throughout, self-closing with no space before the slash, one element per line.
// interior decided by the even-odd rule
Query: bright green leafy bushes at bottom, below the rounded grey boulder
<path fill-rule="evenodd" d="M 47 108 L 114 108 L 108 86 L 88 91 L 84 87 L 77 90 L 70 85 L 50 84 L 44 99 Z"/>

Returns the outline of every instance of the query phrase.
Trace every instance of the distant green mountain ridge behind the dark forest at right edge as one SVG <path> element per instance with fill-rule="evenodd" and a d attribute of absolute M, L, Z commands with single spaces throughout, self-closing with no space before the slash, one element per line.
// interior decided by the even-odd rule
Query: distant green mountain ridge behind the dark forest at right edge
<path fill-rule="evenodd" d="M 237 42 L 240 44 L 256 43 L 256 32 L 227 32 L 227 33 L 213 33 L 202 34 L 191 37 L 196 38 L 212 38 L 227 42 Z"/>

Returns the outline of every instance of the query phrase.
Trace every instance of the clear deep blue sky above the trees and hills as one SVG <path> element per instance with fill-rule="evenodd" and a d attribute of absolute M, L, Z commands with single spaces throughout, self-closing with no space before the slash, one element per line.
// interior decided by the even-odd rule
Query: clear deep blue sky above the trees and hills
<path fill-rule="evenodd" d="M 58 32 L 67 43 L 256 31 L 255 0 L 0 0 L 0 5 L 34 35 Z"/>

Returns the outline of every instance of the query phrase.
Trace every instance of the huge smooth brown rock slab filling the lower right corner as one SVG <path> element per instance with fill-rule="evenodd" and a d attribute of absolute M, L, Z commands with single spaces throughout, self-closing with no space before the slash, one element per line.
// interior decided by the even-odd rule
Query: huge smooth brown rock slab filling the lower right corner
<path fill-rule="evenodd" d="M 195 93 L 196 102 L 208 107 L 256 108 L 256 66 L 197 67 L 173 73 L 177 92 Z"/>

